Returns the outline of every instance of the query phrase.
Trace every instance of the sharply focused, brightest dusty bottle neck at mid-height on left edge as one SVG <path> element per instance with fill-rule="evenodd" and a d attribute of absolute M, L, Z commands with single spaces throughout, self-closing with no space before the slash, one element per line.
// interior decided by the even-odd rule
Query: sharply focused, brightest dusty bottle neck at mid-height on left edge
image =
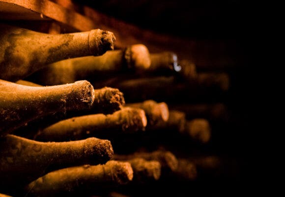
<path fill-rule="evenodd" d="M 93 101 L 88 81 L 32 87 L 0 80 L 0 136 L 50 113 L 88 109 Z"/>

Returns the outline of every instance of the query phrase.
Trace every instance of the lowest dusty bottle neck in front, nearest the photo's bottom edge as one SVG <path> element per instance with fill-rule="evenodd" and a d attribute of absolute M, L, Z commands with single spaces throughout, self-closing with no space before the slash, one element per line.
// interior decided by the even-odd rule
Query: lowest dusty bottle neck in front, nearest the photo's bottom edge
<path fill-rule="evenodd" d="M 28 196 L 54 196 L 92 194 L 133 179 L 128 162 L 109 161 L 103 165 L 74 166 L 52 171 L 28 184 Z"/>

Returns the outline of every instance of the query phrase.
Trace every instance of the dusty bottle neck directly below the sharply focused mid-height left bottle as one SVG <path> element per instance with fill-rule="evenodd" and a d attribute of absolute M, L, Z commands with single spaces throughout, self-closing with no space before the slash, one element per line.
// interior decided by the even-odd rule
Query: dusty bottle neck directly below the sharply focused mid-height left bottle
<path fill-rule="evenodd" d="M 91 114 L 65 119 L 39 131 L 40 141 L 69 141 L 95 136 L 109 139 L 115 133 L 143 131 L 147 124 L 142 109 L 124 107 L 113 114 Z M 115 132 L 115 133 L 114 133 Z"/>

